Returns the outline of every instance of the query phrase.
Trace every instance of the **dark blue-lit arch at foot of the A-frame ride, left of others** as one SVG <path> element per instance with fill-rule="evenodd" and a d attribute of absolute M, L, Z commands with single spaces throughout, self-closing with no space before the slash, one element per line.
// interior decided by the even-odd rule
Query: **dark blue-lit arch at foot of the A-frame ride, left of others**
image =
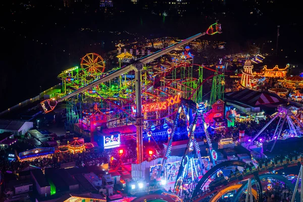
<path fill-rule="evenodd" d="M 193 190 L 191 198 L 193 199 L 194 197 L 199 195 L 201 188 L 204 187 L 204 185 L 207 183 L 207 181 L 210 179 L 210 177 L 212 175 L 214 175 L 219 170 L 229 167 L 229 166 L 240 166 L 240 167 L 248 166 L 248 167 L 250 167 L 248 164 L 241 162 L 241 161 L 225 161 L 225 162 L 222 162 L 222 163 L 214 166 L 199 180 L 195 189 Z"/>

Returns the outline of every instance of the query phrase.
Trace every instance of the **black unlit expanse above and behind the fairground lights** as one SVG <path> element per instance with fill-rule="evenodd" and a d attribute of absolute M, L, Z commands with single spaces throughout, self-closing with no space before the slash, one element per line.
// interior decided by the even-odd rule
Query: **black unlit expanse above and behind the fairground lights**
<path fill-rule="evenodd" d="M 137 37 L 126 33 L 115 35 L 109 33 L 109 30 L 126 30 L 146 37 L 152 34 L 155 37 L 184 38 L 205 31 L 217 18 L 222 23 L 223 34 L 206 36 L 206 39 L 225 40 L 227 46 L 230 42 L 238 43 L 241 48 L 244 48 L 247 41 L 260 43 L 272 40 L 267 46 L 274 48 L 277 25 L 280 25 L 279 49 L 283 49 L 283 52 L 279 53 L 279 57 L 288 56 L 291 60 L 298 61 L 301 56 L 301 11 L 291 1 L 287 5 L 285 2 L 282 4 L 274 1 L 272 4 L 257 6 L 251 3 L 253 1 L 247 3 L 226 0 L 225 5 L 217 5 L 216 1 L 209 1 L 205 5 L 200 1 L 192 1 L 188 8 L 190 12 L 182 18 L 169 15 L 165 21 L 149 10 L 141 10 L 139 6 L 129 4 L 130 1 L 113 2 L 113 16 L 104 14 L 97 6 L 93 7 L 98 5 L 93 0 L 85 14 L 84 7 L 63 8 L 59 11 L 58 8 L 62 7 L 60 1 L 32 2 L 35 8 L 29 9 L 20 5 L 22 1 L 2 3 L 0 111 L 37 95 L 39 86 L 43 90 L 58 84 L 60 81 L 57 75 L 64 69 L 79 65 L 80 58 L 86 53 L 102 55 L 114 48 L 111 41 Z M 249 11 L 256 13 L 255 8 L 263 15 L 250 15 Z M 124 12 L 119 12 L 121 10 Z M 80 31 L 80 28 L 94 31 Z M 98 44 L 102 42 L 105 42 L 104 47 Z"/>

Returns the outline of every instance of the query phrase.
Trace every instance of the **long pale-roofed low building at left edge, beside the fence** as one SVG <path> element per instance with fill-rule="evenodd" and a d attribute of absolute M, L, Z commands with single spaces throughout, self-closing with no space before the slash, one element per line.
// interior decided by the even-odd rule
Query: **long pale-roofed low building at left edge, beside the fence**
<path fill-rule="evenodd" d="M 0 120 L 0 133 L 12 132 L 15 136 L 24 135 L 33 127 L 33 122 Z"/>

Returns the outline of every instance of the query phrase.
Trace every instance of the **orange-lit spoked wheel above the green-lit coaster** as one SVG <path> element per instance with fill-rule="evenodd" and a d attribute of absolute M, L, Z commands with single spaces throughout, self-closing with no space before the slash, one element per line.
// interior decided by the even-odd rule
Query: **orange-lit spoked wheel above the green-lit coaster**
<path fill-rule="evenodd" d="M 84 69 L 90 76 L 96 78 L 104 72 L 105 62 L 98 54 L 86 54 L 82 58 L 81 68 Z"/>

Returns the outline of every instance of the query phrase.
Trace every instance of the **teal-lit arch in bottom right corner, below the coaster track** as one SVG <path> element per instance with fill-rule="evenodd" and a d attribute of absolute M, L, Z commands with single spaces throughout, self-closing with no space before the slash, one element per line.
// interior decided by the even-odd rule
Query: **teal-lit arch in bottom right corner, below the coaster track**
<path fill-rule="evenodd" d="M 262 179 L 268 179 L 268 178 L 274 178 L 276 180 L 284 182 L 291 190 L 294 189 L 294 185 L 286 178 L 281 175 L 276 175 L 276 174 L 263 174 L 260 175 L 259 178 Z M 255 183 L 255 180 L 251 180 L 251 184 Z M 234 202 L 239 201 L 239 198 L 241 197 L 242 193 L 247 189 L 247 181 L 239 188 L 237 193 L 234 195 Z M 298 192 L 295 194 L 295 201 L 300 201 L 300 197 Z"/>

